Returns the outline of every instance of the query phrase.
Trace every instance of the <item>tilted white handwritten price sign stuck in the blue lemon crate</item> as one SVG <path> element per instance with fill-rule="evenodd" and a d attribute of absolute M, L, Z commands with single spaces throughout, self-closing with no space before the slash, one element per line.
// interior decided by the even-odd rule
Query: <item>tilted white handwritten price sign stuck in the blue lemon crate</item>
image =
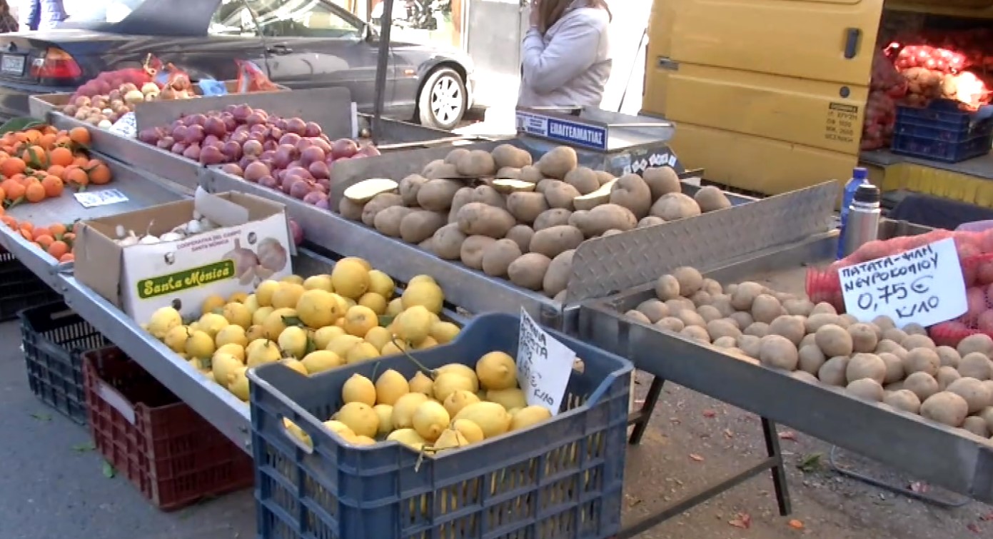
<path fill-rule="evenodd" d="M 576 352 L 546 334 L 523 309 L 517 337 L 517 381 L 528 406 L 557 415 L 562 406 Z"/>

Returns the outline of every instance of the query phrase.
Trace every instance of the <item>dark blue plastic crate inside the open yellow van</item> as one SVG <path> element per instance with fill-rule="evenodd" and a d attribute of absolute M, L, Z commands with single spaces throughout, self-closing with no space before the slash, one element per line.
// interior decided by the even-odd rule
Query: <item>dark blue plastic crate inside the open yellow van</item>
<path fill-rule="evenodd" d="M 993 119 L 959 110 L 954 101 L 933 101 L 927 108 L 897 107 L 895 154 L 957 163 L 981 157 L 993 145 Z"/>

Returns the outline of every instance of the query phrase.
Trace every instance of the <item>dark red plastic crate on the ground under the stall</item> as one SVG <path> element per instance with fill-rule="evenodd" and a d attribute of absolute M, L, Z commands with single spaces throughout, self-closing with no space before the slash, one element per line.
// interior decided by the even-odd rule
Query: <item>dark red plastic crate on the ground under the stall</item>
<path fill-rule="evenodd" d="M 82 355 L 96 449 L 162 510 L 251 486 L 251 458 L 116 346 Z"/>

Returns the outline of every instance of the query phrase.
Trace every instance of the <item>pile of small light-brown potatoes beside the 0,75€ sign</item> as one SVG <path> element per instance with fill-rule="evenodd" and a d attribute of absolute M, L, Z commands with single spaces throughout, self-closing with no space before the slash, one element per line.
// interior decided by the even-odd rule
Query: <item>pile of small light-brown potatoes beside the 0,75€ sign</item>
<path fill-rule="evenodd" d="M 659 277 L 655 297 L 626 315 L 981 438 L 993 433 L 993 338 L 936 346 L 916 324 L 860 323 L 759 283 L 724 288 L 690 267 Z"/>

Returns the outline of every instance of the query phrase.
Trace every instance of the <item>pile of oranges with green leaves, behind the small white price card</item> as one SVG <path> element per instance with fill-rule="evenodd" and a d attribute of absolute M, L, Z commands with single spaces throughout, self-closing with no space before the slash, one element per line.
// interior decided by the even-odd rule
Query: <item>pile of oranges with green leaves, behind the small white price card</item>
<path fill-rule="evenodd" d="M 66 186 L 78 191 L 110 182 L 107 165 L 86 154 L 89 142 L 85 127 L 46 125 L 0 136 L 0 215 L 3 207 L 60 197 Z"/>

